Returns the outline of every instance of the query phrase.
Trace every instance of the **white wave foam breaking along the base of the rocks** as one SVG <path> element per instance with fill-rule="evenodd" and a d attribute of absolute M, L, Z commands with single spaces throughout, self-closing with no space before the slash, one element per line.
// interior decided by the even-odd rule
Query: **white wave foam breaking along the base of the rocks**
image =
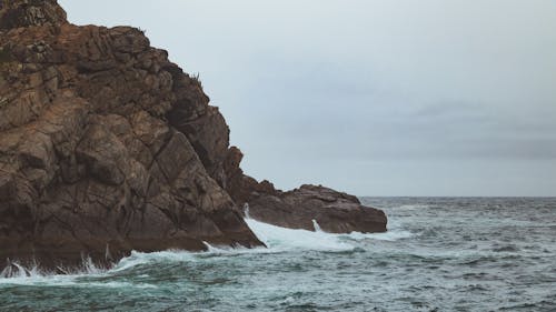
<path fill-rule="evenodd" d="M 0 272 L 0 283 L 73 285 L 78 283 L 76 280 L 78 280 L 79 278 L 109 276 L 130 270 L 138 265 L 157 265 L 158 263 L 202 261 L 203 258 L 207 256 L 229 256 L 250 253 L 296 252 L 304 250 L 342 252 L 359 248 L 358 243 L 364 240 L 395 241 L 399 239 L 410 238 L 413 235 L 408 231 L 398 229 L 400 227 L 399 224 L 397 224 L 393 228 L 393 230 L 386 233 L 373 234 L 365 234 L 359 232 L 351 232 L 348 234 L 327 233 L 320 229 L 316 220 L 312 221 L 315 231 L 288 229 L 251 219 L 249 218 L 248 210 L 246 210 L 246 223 L 257 235 L 257 238 L 267 245 L 267 248 L 247 249 L 242 246 L 216 246 L 205 242 L 205 244 L 207 245 L 207 251 L 205 252 L 168 250 L 146 253 L 132 251 L 129 256 L 121 259 L 110 270 L 98 268 L 95 265 L 90 258 L 85 258 L 81 268 L 78 270 L 66 270 L 63 268 L 58 268 L 58 271 L 64 272 L 66 274 L 44 272 L 40 271 L 38 269 L 38 265 L 26 268 L 17 262 L 12 262 L 12 265 L 7 266 L 2 272 Z M 108 283 L 86 284 L 89 284 L 91 286 L 100 284 L 105 284 L 106 286 L 117 286 L 110 285 Z"/>

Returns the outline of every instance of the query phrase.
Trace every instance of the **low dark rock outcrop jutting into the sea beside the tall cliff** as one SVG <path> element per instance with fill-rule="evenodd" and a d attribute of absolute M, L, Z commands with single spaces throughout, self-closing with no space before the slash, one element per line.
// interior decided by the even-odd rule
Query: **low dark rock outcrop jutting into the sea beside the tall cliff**
<path fill-rule="evenodd" d="M 316 221 L 320 230 L 330 233 L 386 232 L 387 218 L 381 210 L 364 207 L 356 197 L 324 187 L 276 190 L 269 181 L 257 182 L 244 174 L 239 168 L 242 157 L 236 148 L 228 152 L 227 191 L 238 205 L 248 208 L 250 218 L 310 231 L 316 230 Z"/>

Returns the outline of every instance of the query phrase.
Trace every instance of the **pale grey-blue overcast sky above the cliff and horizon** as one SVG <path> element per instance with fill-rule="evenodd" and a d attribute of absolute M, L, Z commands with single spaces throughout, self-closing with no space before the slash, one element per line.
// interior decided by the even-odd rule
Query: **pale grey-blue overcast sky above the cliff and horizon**
<path fill-rule="evenodd" d="M 556 195 L 556 1 L 59 2 L 199 73 L 278 188 Z"/>

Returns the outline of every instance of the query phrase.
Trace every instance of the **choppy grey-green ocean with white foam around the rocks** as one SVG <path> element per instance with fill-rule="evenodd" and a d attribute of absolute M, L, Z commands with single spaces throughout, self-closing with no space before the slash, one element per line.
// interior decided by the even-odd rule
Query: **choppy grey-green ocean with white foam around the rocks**
<path fill-rule="evenodd" d="M 0 273 L 0 311 L 556 311 L 556 199 L 363 198 L 387 233 L 247 219 L 268 249 Z"/>

